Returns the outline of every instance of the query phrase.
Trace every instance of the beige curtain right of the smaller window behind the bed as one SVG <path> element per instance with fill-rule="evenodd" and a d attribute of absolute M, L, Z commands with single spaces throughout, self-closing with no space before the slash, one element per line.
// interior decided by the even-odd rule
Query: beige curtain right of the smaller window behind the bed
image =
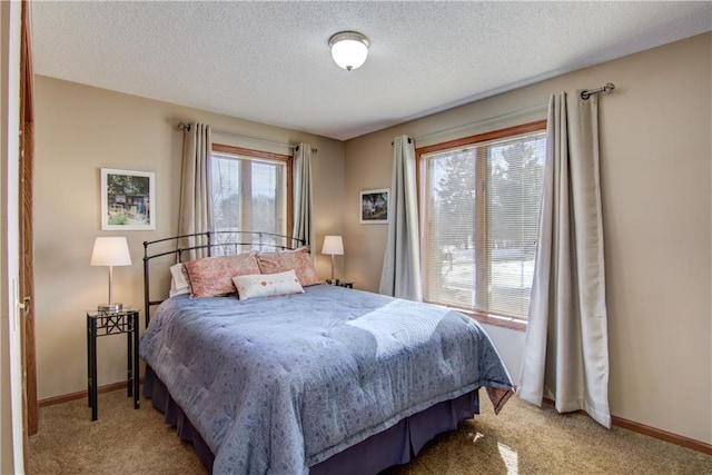
<path fill-rule="evenodd" d="M 315 246 L 314 224 L 312 222 L 312 146 L 299 144 L 294 150 L 294 229 L 291 237 L 304 239 L 307 246 Z M 312 258 L 316 249 L 312 249 Z"/>

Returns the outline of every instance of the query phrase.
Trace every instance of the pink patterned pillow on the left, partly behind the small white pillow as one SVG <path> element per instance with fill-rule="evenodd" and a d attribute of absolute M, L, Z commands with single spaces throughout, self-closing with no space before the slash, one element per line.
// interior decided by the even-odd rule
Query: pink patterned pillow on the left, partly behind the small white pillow
<path fill-rule="evenodd" d="M 190 298 L 219 297 L 235 293 L 233 277 L 259 274 L 257 253 L 237 256 L 205 257 L 185 264 Z"/>

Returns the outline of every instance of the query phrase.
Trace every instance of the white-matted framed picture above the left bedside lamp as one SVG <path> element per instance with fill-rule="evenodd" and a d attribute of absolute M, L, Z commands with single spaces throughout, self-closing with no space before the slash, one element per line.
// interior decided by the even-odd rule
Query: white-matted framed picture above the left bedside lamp
<path fill-rule="evenodd" d="M 101 169 L 101 230 L 156 229 L 156 174 Z"/>

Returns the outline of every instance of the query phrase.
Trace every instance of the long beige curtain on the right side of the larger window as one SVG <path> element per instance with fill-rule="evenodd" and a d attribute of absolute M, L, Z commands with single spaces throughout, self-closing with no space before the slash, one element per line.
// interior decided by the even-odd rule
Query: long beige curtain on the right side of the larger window
<path fill-rule="evenodd" d="M 597 96 L 552 96 L 544 196 L 517 395 L 605 427 L 609 347 Z"/>

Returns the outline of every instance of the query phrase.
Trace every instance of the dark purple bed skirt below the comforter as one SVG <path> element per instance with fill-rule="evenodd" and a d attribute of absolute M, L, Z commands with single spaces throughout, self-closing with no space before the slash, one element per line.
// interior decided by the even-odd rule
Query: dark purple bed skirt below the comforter
<path fill-rule="evenodd" d="M 166 423 L 176 427 L 182 441 L 192 443 L 200 462 L 212 472 L 215 455 L 148 365 L 144 396 L 150 398 L 154 407 L 166 415 Z M 377 474 L 393 465 L 406 464 L 437 434 L 454 431 L 457 423 L 471 419 L 475 414 L 479 414 L 477 390 L 406 417 L 393 427 L 309 467 L 309 474 Z"/>

